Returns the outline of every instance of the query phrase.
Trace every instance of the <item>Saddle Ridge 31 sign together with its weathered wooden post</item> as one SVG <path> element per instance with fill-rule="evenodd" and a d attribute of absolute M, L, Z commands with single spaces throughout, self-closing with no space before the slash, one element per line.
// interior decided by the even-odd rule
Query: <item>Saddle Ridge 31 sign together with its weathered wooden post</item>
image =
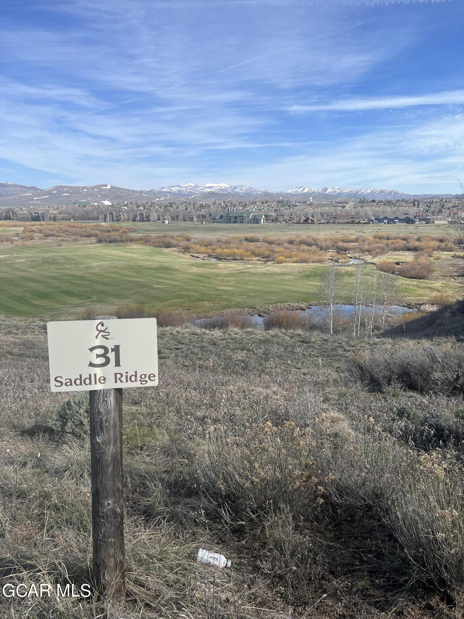
<path fill-rule="evenodd" d="M 93 574 L 105 597 L 122 599 L 122 389 L 158 384 L 155 318 L 48 322 L 51 391 L 87 391 L 90 407 Z"/>

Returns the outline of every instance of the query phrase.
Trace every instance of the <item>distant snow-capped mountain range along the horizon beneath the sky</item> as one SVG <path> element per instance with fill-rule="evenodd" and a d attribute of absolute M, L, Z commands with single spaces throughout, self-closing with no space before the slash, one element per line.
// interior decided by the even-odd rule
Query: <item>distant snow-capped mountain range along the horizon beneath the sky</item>
<path fill-rule="evenodd" d="M 431 194 L 434 195 L 434 194 Z M 439 194 L 450 196 L 451 194 Z M 292 200 L 314 199 L 314 202 L 333 201 L 350 197 L 365 197 L 370 200 L 401 199 L 419 197 L 418 194 L 405 194 L 395 189 L 346 189 L 341 187 L 310 187 L 297 185 L 287 191 L 270 191 L 254 189 L 243 185 L 225 183 L 183 183 L 159 187 L 157 189 L 126 189 L 110 184 L 76 186 L 56 185 L 48 189 L 25 186 L 15 183 L 0 183 L 0 207 L 34 207 L 60 206 L 64 204 L 90 203 L 99 206 L 111 206 L 115 202 L 152 202 L 189 200 L 223 201 L 225 199 L 278 199 Z"/>

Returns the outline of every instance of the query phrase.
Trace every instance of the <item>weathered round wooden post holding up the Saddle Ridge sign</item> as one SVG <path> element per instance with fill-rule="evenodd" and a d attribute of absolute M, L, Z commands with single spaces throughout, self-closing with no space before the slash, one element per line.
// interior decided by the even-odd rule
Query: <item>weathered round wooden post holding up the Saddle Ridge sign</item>
<path fill-rule="evenodd" d="M 93 316 L 93 320 L 117 316 Z M 122 501 L 122 389 L 90 389 L 93 577 L 112 599 L 126 593 Z"/>

